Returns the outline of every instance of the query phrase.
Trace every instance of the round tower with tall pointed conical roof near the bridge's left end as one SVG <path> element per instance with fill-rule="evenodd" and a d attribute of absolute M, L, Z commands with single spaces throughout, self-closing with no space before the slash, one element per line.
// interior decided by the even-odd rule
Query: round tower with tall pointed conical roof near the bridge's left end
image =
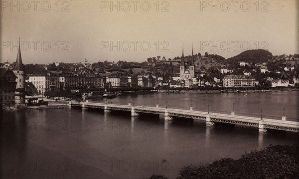
<path fill-rule="evenodd" d="M 20 39 L 13 73 L 16 75 L 15 106 L 25 104 L 25 68 L 22 63 Z"/>

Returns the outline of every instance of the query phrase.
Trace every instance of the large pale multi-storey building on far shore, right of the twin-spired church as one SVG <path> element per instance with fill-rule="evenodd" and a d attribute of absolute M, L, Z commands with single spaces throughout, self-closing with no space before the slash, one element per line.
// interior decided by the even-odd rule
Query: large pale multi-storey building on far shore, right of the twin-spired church
<path fill-rule="evenodd" d="M 223 77 L 223 87 L 254 87 L 255 79 L 249 76 L 225 75 Z"/>

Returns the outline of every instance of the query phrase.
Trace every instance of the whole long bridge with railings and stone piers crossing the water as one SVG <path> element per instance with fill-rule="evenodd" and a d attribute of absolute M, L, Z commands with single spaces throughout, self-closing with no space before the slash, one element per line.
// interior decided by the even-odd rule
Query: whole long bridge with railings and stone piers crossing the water
<path fill-rule="evenodd" d="M 282 117 L 282 120 L 276 119 L 265 119 L 257 117 L 248 117 L 248 116 L 238 116 L 235 115 L 235 112 L 231 114 L 221 114 L 221 113 L 210 113 L 210 112 L 201 112 L 195 111 L 191 107 L 190 110 L 186 109 L 169 109 L 162 108 L 159 105 L 156 107 L 149 106 L 135 106 L 129 103 L 128 105 L 121 104 L 107 104 L 107 103 L 92 103 L 92 102 L 69 102 L 70 107 L 80 107 L 83 110 L 89 108 L 95 109 L 104 109 L 105 113 L 111 112 L 111 110 L 118 111 L 129 111 L 132 116 L 138 116 L 141 113 L 157 114 L 164 115 L 165 121 L 172 120 L 172 117 L 182 117 L 190 119 L 198 119 L 206 122 L 207 126 L 213 126 L 215 122 L 218 123 L 228 123 L 244 126 L 253 126 L 259 129 L 260 133 L 267 132 L 267 129 L 276 129 L 283 131 L 293 131 L 299 132 L 299 122 L 295 121 L 286 121 L 286 117 Z"/>

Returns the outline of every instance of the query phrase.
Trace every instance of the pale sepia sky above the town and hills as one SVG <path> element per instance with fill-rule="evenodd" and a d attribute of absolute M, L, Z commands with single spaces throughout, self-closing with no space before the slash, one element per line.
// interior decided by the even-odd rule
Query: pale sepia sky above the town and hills
<path fill-rule="evenodd" d="M 168 59 L 182 44 L 191 55 L 192 43 L 194 53 L 225 58 L 299 53 L 298 0 L 114 0 L 112 9 L 110 0 L 0 1 L 1 63 L 15 61 L 18 38 L 25 64 Z"/>

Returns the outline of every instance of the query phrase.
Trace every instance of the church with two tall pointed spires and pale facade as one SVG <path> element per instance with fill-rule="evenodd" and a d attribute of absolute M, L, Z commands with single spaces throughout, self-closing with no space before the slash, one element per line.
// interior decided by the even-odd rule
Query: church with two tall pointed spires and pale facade
<path fill-rule="evenodd" d="M 194 77 L 194 70 L 195 70 L 195 64 L 194 64 L 194 57 L 193 57 L 193 45 L 192 45 L 192 57 L 191 57 L 191 64 L 186 65 L 184 60 L 184 48 L 182 52 L 182 58 L 180 63 L 180 80 L 184 79 L 191 79 Z"/>

